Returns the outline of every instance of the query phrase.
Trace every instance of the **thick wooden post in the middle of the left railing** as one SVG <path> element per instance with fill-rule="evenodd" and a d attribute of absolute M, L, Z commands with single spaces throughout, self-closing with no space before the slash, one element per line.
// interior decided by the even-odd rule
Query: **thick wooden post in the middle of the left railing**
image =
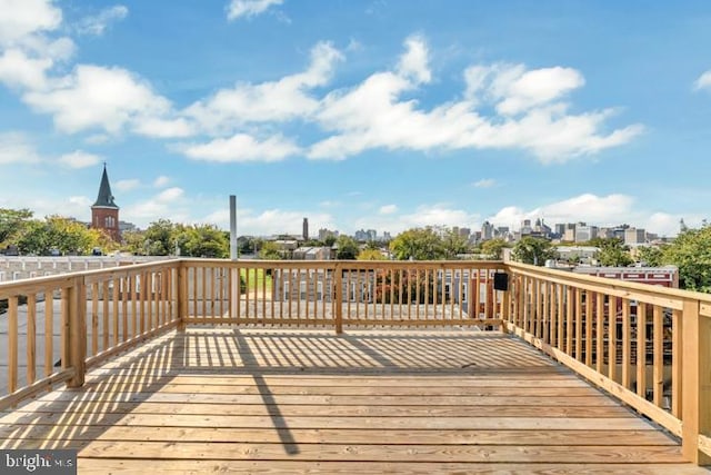
<path fill-rule="evenodd" d="M 67 382 L 67 387 L 80 387 L 84 384 L 87 372 L 87 287 L 83 277 L 73 279 L 67 294 L 69 315 L 64 335 L 68 338 L 67 367 L 74 369 L 74 375 Z"/>

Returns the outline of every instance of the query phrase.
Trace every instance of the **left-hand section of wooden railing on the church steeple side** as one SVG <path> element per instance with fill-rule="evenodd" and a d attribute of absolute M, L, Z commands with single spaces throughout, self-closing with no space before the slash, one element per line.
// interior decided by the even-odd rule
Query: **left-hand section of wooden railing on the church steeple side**
<path fill-rule="evenodd" d="M 0 410 L 179 321 L 178 261 L 0 284 Z"/>

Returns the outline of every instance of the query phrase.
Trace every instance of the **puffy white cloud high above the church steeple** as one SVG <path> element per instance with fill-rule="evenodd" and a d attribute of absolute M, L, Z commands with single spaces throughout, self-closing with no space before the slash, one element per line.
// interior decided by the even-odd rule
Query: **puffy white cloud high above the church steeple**
<path fill-rule="evenodd" d="M 170 113 L 170 102 L 136 75 L 121 68 L 79 65 L 50 90 L 23 97 L 34 110 L 53 116 L 64 132 L 103 129 L 118 133 L 128 122 Z"/>

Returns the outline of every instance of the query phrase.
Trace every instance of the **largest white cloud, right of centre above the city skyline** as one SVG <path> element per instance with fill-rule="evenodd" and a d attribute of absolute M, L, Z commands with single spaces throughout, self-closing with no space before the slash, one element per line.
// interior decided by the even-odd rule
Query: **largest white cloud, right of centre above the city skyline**
<path fill-rule="evenodd" d="M 413 37 L 405 48 L 395 71 L 375 72 L 351 89 L 327 95 L 317 119 L 333 135 L 313 144 L 310 158 L 344 159 L 373 148 L 495 148 L 562 162 L 620 146 L 643 131 L 641 125 L 604 131 L 613 109 L 571 113 L 562 99 L 584 79 L 563 67 L 475 66 L 464 72 L 462 100 L 424 110 L 417 100 L 401 97 L 431 78 L 427 44 Z M 481 103 L 491 103 L 497 113 L 482 115 Z"/>

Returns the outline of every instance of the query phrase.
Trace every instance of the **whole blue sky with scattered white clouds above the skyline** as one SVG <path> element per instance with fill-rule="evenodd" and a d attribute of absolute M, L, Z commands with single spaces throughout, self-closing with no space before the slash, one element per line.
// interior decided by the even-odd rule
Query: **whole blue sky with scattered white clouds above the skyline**
<path fill-rule="evenodd" d="M 240 234 L 711 200 L 707 1 L 0 0 L 0 207 Z"/>

